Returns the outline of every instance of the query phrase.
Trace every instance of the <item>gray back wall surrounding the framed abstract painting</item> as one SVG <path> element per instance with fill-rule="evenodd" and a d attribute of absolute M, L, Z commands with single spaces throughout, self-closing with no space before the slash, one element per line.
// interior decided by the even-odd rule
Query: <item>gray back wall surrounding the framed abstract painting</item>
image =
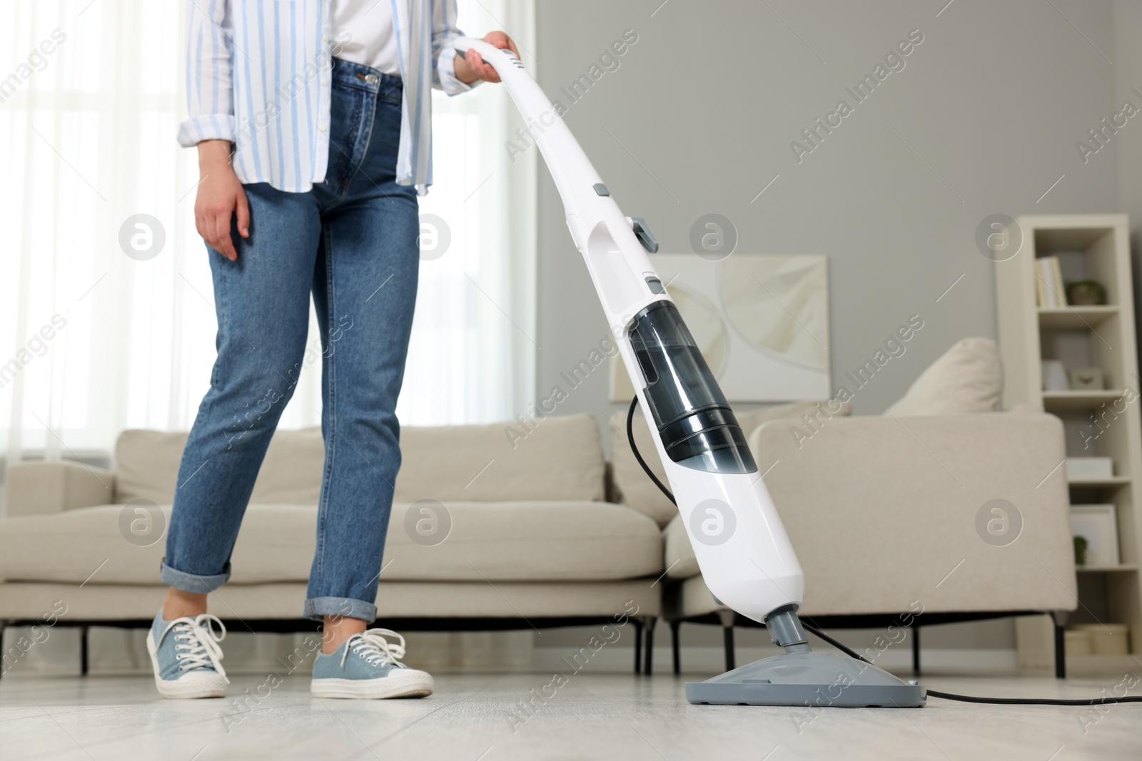
<path fill-rule="evenodd" d="M 858 414 L 883 412 L 955 341 L 996 337 L 991 262 L 974 243 L 984 217 L 1124 210 L 1142 221 L 1142 180 L 1126 171 L 1142 161 L 1142 116 L 1086 164 L 1075 147 L 1131 86 L 1142 89 L 1135 2 L 955 0 L 942 13 L 947 0 L 660 2 L 541 0 L 540 83 L 558 92 L 624 30 L 637 32 L 566 123 L 662 251 L 690 251 L 693 221 L 716 212 L 738 229 L 734 256 L 828 256 L 834 387 L 909 315 L 924 317 L 908 353 L 856 395 Z M 838 99 L 852 104 L 845 88 L 914 29 L 924 41 L 904 68 L 798 163 L 790 141 Z M 546 169 L 538 273 L 542 397 L 606 335 Z M 605 373 L 561 405 L 614 408 Z M 713 628 L 685 631 L 686 645 L 717 642 Z M 576 635 L 552 632 L 542 645 Z M 763 635 L 743 634 L 754 640 Z M 935 628 L 925 643 L 1003 648 L 1013 638 L 1010 622 L 995 622 Z"/>

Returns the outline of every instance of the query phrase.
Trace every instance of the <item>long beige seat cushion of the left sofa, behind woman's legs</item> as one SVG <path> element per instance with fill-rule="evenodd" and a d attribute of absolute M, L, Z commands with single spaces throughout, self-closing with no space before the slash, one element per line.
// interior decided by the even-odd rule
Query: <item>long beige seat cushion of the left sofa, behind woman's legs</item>
<path fill-rule="evenodd" d="M 451 523 L 428 544 L 417 521 Z M 154 584 L 164 537 L 138 547 L 120 533 L 123 505 L 0 520 L 0 578 Z M 409 529 L 407 513 L 412 510 Z M 170 507 L 162 508 L 167 525 Z M 251 504 L 231 561 L 231 582 L 304 582 L 313 561 L 316 511 Z M 412 540 L 418 537 L 418 542 Z M 662 537 L 646 516 L 608 502 L 395 503 L 381 581 L 614 581 L 662 572 Z"/>

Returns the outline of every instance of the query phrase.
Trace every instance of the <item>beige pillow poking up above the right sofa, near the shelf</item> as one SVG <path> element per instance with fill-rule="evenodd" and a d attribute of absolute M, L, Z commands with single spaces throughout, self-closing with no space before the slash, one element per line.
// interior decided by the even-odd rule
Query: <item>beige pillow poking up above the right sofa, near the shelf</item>
<path fill-rule="evenodd" d="M 885 414 L 955 415 L 991 412 L 1003 394 L 1003 361 L 989 338 L 965 338 L 928 365 Z"/>

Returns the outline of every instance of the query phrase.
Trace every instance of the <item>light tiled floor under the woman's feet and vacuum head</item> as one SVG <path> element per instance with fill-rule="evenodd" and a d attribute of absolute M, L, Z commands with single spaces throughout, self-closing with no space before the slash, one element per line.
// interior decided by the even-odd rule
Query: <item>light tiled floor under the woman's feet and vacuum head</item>
<path fill-rule="evenodd" d="M 520 702 L 549 681 L 444 674 L 429 698 L 352 702 L 314 699 L 299 675 L 260 690 L 265 678 L 240 675 L 230 698 L 176 702 L 159 698 L 148 678 L 9 675 L 0 680 L 0 759 L 1142 759 L 1142 704 L 1095 711 L 931 698 L 919 710 L 814 715 L 689 705 L 685 680 L 669 675 L 580 673 L 521 721 Z M 1012 697 L 1095 697 L 1107 687 L 1030 678 L 924 683 Z"/>

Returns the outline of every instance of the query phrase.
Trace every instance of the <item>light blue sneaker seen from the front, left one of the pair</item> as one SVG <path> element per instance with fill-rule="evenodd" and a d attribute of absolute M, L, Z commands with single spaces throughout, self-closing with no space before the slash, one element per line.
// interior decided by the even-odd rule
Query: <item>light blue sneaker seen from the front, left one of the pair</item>
<path fill-rule="evenodd" d="M 214 624 L 218 625 L 215 631 Z M 146 649 L 151 654 L 154 683 L 163 697 L 225 697 L 226 672 L 222 648 L 226 626 L 208 613 L 164 621 L 162 610 L 151 623 Z"/>

